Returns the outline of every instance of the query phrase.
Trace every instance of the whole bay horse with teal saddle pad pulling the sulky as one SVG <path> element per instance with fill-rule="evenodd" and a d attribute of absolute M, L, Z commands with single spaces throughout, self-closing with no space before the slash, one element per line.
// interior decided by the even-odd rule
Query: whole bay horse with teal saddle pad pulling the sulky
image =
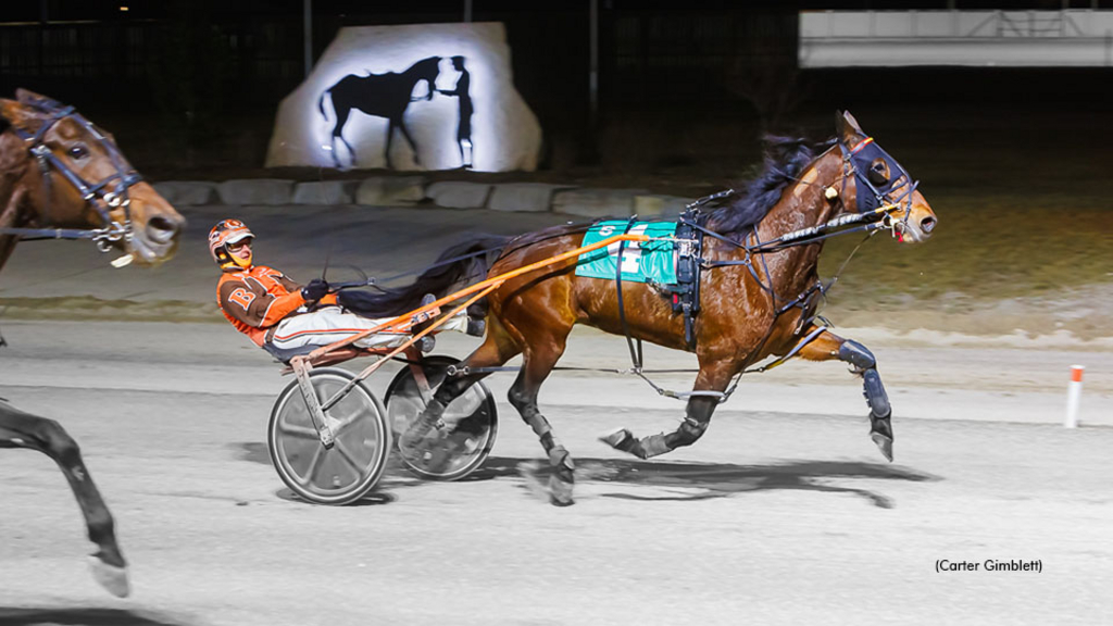
<path fill-rule="evenodd" d="M 718 207 L 688 213 L 682 222 L 702 234 L 700 310 L 687 333 L 689 322 L 674 312 L 670 294 L 649 283 L 578 276 L 575 257 L 509 280 L 487 296 L 482 345 L 457 368 L 462 375 L 446 379 L 403 433 L 402 452 L 411 458 L 423 456 L 423 447 L 436 440 L 444 408 L 492 368 L 521 354 L 522 368 L 511 387 L 510 402 L 540 438 L 552 464 L 552 502 L 571 503 L 572 458 L 541 414 L 536 399 L 541 383 L 564 352 L 572 326 L 582 323 L 691 351 L 698 358 L 695 390 L 681 394 L 687 398 L 687 413 L 680 426 L 673 432 L 642 438 L 626 429 L 603 438 L 621 451 L 646 459 L 695 443 L 739 373 L 769 356 L 800 356 L 838 359 L 861 376 L 870 437 L 892 460 L 889 402 L 874 355 L 860 343 L 831 333 L 815 312 L 829 286 L 818 274 L 823 239 L 829 232 L 863 224 L 856 228 L 887 227 L 905 243 L 930 236 L 935 214 L 904 168 L 850 114 L 839 114 L 837 136 L 818 156 L 804 140 L 776 139 L 764 174 Z M 582 226 L 558 226 L 503 239 L 490 275 L 574 250 L 583 237 Z M 490 241 L 479 245 L 489 246 Z M 465 250 L 466 242 L 445 253 L 445 263 L 413 285 L 377 294 L 378 304 L 413 303 L 424 292 L 447 293 L 445 283 L 460 278 L 464 267 L 477 262 L 475 257 L 447 258 Z M 432 438 L 427 437 L 431 432 Z"/>

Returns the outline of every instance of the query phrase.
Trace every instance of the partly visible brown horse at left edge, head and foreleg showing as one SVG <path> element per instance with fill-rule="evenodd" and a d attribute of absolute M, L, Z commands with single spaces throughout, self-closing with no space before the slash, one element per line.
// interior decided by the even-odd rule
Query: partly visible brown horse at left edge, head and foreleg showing
<path fill-rule="evenodd" d="M 110 135 L 72 107 L 20 89 L 0 99 L 0 267 L 20 239 L 90 238 L 139 264 L 168 260 L 185 219 L 142 182 Z M 38 450 L 58 463 L 96 544 L 93 577 L 129 593 L 112 516 L 62 427 L 0 402 L 0 448 Z"/>

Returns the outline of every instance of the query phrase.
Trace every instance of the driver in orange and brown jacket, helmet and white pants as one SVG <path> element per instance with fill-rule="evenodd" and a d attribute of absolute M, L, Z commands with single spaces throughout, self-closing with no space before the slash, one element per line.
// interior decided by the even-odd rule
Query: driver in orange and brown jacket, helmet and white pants
<path fill-rule="evenodd" d="M 299 285 L 277 270 L 254 265 L 254 239 L 255 235 L 238 219 L 225 219 L 209 231 L 209 252 L 223 272 L 216 287 L 217 304 L 236 330 L 279 361 L 287 362 L 391 320 L 345 312 L 336 295 L 328 293 L 328 283 L 321 278 Z M 425 296 L 423 304 L 432 302 L 430 297 Z M 317 309 L 311 311 L 313 305 Z M 437 330 L 467 332 L 466 313 L 461 311 Z M 380 332 L 355 345 L 396 346 L 408 336 L 406 332 Z M 426 342 L 426 348 L 431 349 L 431 343 Z"/>

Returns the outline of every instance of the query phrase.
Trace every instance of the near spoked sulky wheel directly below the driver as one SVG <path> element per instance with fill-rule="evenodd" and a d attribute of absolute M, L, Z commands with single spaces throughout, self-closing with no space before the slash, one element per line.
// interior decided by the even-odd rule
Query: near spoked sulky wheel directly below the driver
<path fill-rule="evenodd" d="M 323 368 L 309 372 L 322 404 L 355 376 Z M 363 384 L 325 411 L 335 442 L 325 448 L 297 381 L 289 383 L 270 411 L 267 448 L 278 477 L 299 497 L 318 505 L 346 505 L 371 491 L 386 467 L 391 429 L 383 404 Z"/>

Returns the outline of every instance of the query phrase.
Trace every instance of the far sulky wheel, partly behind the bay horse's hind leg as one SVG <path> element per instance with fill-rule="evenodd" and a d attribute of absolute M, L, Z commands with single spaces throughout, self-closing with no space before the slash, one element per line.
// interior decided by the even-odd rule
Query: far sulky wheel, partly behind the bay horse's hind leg
<path fill-rule="evenodd" d="M 410 428 L 425 410 L 429 398 L 444 381 L 449 365 L 459 363 L 452 356 L 425 356 L 421 370 L 427 385 L 420 385 L 413 365 L 403 368 L 386 389 L 386 413 L 396 436 Z M 459 480 L 475 471 L 494 446 L 499 434 L 499 415 L 491 391 L 477 382 L 444 410 L 444 428 L 431 429 L 416 448 L 416 458 L 398 454 L 402 462 L 422 478 Z"/>

